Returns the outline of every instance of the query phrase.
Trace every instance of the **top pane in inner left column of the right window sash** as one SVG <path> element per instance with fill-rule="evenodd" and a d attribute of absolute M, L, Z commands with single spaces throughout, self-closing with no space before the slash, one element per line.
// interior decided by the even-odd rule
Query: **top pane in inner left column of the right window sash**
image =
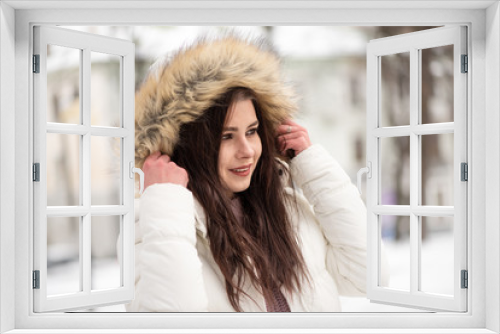
<path fill-rule="evenodd" d="M 381 126 L 410 124 L 410 53 L 380 57 Z"/>

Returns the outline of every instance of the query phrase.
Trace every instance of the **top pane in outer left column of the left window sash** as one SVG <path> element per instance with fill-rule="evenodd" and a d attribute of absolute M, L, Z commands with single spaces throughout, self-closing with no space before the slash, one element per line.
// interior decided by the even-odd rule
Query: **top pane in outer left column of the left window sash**
<path fill-rule="evenodd" d="M 80 55 L 47 45 L 47 122 L 80 124 Z"/>

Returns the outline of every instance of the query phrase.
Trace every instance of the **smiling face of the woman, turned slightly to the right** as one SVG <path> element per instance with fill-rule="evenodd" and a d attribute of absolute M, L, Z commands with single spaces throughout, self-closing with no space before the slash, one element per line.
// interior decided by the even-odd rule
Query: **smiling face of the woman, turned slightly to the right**
<path fill-rule="evenodd" d="M 259 122 L 251 100 L 234 102 L 227 113 L 219 149 L 219 177 L 232 196 L 248 189 L 262 153 Z"/>

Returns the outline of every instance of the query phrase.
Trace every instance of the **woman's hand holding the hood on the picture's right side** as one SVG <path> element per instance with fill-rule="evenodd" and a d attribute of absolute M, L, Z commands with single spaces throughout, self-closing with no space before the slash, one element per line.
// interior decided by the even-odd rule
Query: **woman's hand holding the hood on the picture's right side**
<path fill-rule="evenodd" d="M 278 148 L 283 155 L 286 155 L 287 150 L 293 150 L 297 156 L 311 146 L 307 129 L 290 119 L 281 123 L 277 132 Z"/>

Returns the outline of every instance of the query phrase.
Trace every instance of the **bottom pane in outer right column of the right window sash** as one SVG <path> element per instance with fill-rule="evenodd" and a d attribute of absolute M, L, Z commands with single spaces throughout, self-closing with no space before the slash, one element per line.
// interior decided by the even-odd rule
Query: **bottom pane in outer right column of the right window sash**
<path fill-rule="evenodd" d="M 420 290 L 453 295 L 453 218 L 420 217 L 420 220 Z"/>

